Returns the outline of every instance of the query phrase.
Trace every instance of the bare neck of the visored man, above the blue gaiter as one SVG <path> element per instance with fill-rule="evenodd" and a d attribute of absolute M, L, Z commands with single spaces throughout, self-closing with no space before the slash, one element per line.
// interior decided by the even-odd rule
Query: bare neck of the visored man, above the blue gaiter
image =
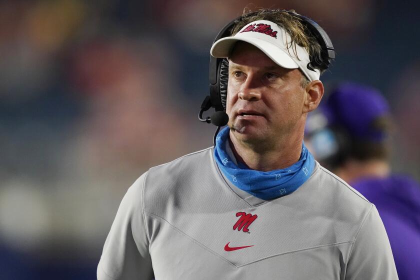
<path fill-rule="evenodd" d="M 300 158 L 303 136 L 279 141 L 269 148 L 266 146 L 258 148 L 241 143 L 231 133 L 228 140 L 236 160 L 251 169 L 259 171 L 283 169 Z"/>

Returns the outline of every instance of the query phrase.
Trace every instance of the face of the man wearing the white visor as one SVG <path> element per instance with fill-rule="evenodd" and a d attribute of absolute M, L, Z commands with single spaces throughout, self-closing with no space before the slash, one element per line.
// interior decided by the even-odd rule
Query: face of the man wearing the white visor
<path fill-rule="evenodd" d="M 249 144 L 295 140 L 305 120 L 301 78 L 298 69 L 277 65 L 251 44 L 236 43 L 229 58 L 226 100 L 233 136 Z"/>

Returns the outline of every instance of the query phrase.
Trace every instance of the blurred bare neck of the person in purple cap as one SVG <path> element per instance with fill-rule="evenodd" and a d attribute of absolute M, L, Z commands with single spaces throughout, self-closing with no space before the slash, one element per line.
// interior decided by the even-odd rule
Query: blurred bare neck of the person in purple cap
<path fill-rule="evenodd" d="M 346 182 L 352 182 L 360 177 L 386 177 L 390 167 L 386 160 L 371 159 L 367 161 L 348 160 L 342 167 L 335 170 L 335 174 Z"/>

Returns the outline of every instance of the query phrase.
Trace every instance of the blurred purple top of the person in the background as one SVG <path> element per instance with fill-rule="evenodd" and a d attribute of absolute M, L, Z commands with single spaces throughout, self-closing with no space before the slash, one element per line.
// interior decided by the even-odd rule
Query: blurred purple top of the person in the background
<path fill-rule="evenodd" d="M 385 225 L 400 280 L 420 275 L 420 186 L 401 175 L 351 182 L 376 208 Z"/>

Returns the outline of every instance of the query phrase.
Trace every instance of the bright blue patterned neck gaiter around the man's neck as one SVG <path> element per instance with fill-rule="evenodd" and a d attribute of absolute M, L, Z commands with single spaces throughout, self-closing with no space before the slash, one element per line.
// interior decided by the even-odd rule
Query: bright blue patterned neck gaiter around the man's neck
<path fill-rule="evenodd" d="M 315 166 L 315 160 L 304 144 L 299 160 L 284 169 L 258 171 L 240 162 L 236 165 L 226 152 L 228 137 L 228 126 L 216 137 L 214 158 L 218 167 L 232 184 L 260 199 L 269 200 L 292 193 L 310 177 Z"/>

